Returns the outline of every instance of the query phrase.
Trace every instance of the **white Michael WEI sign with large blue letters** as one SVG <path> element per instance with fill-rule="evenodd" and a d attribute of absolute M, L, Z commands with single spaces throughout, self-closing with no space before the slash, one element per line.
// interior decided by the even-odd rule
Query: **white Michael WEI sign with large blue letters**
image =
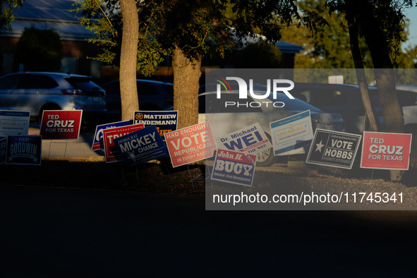
<path fill-rule="evenodd" d="M 272 147 L 259 123 L 229 133 L 220 138 L 225 150 L 235 150 L 255 155 Z"/>

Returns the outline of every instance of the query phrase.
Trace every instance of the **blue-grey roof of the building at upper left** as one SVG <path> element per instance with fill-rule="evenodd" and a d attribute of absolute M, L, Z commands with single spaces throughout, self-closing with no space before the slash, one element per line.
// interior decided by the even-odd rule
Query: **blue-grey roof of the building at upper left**
<path fill-rule="evenodd" d="M 74 0 L 25 0 L 20 8 L 13 8 L 15 20 L 11 31 L 3 32 L 5 37 L 20 37 L 25 28 L 53 29 L 61 40 L 85 40 L 95 37 L 75 18 Z"/>

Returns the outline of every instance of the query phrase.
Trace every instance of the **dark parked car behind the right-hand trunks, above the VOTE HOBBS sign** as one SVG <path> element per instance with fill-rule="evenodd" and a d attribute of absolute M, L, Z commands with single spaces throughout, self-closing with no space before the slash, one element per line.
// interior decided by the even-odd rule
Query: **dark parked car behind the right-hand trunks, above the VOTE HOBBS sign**
<path fill-rule="evenodd" d="M 370 102 L 373 106 L 378 130 L 384 131 L 384 119 L 380 106 L 380 97 L 377 87 L 368 87 Z M 416 96 L 405 90 L 397 90 L 401 107 L 415 105 Z M 365 108 L 363 107 L 361 92 L 358 85 L 327 84 L 327 83 L 295 83 L 291 95 L 298 97 L 315 107 L 331 113 L 343 115 L 346 132 L 362 134 L 368 130 L 368 122 L 364 121 Z M 404 110 L 404 125 L 417 123 L 415 109 Z M 406 116 L 409 115 L 409 116 Z M 413 119 L 414 118 L 414 119 Z M 365 122 L 365 127 L 363 123 Z"/>

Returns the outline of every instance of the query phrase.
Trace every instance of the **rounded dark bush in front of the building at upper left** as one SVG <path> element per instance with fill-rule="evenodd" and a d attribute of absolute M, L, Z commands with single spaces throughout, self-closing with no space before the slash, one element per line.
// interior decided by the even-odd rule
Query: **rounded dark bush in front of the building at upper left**
<path fill-rule="evenodd" d="M 61 38 L 54 30 L 25 28 L 13 57 L 13 66 L 25 71 L 59 71 L 63 57 Z"/>

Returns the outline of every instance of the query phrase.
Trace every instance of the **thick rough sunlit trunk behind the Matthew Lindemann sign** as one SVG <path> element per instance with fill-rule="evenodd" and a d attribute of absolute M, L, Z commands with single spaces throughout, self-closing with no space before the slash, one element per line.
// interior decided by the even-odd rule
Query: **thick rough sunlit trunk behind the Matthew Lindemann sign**
<path fill-rule="evenodd" d="M 198 87 L 201 56 L 188 58 L 176 47 L 172 54 L 174 71 L 174 110 L 178 110 L 178 128 L 198 123 Z"/>

